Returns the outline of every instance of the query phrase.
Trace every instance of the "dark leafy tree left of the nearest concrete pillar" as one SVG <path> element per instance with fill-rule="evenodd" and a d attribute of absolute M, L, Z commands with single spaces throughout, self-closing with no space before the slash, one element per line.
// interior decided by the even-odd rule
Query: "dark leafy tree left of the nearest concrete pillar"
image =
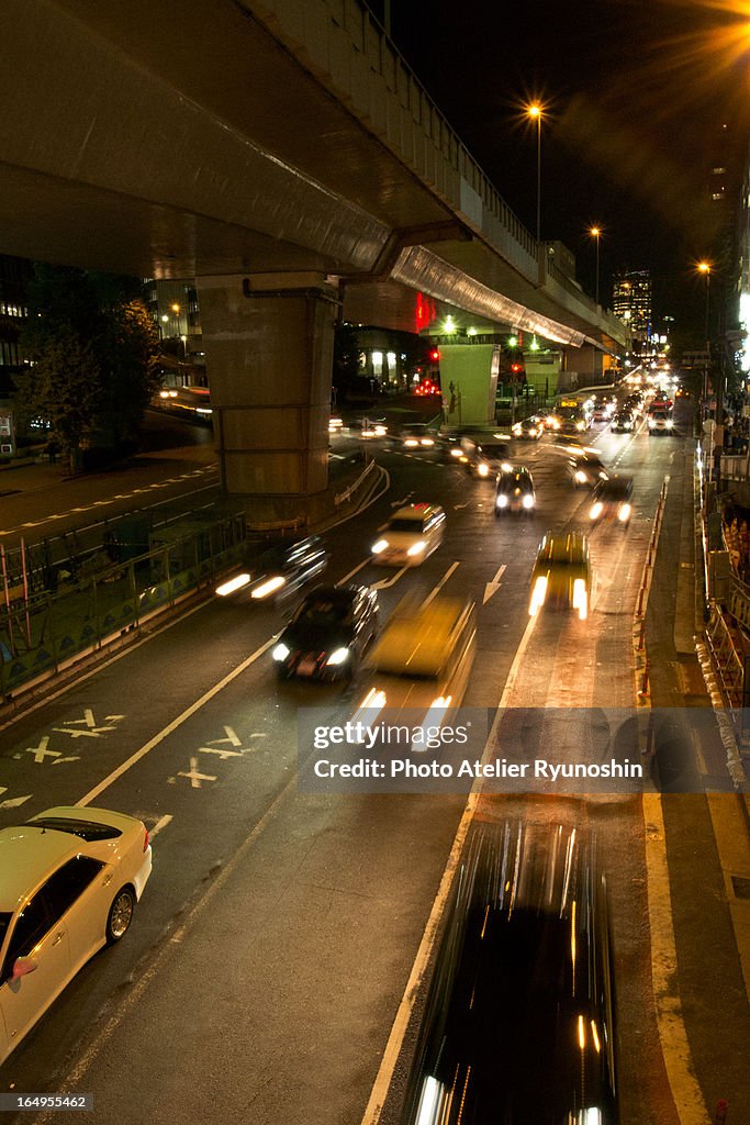
<path fill-rule="evenodd" d="M 73 471 L 88 446 L 121 449 L 135 440 L 157 386 L 157 332 L 136 294 L 132 278 L 35 264 L 19 413 L 48 424 Z"/>

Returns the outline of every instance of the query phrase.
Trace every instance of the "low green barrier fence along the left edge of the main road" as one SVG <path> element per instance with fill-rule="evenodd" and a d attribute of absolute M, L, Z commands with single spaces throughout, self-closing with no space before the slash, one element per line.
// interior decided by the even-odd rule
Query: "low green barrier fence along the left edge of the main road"
<path fill-rule="evenodd" d="M 61 584 L 54 594 L 10 601 L 0 610 L 2 702 L 213 584 L 244 559 L 245 537 L 244 513 L 190 532 L 184 524 L 172 525 L 145 555 Z"/>

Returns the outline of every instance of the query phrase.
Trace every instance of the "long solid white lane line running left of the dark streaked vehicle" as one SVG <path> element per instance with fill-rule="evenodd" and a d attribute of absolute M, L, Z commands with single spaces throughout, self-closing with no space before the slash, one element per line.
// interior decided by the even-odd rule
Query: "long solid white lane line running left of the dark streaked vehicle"
<path fill-rule="evenodd" d="M 518 675 L 518 667 L 521 660 L 526 650 L 526 646 L 531 639 L 534 626 L 536 623 L 536 616 L 528 619 L 528 624 L 521 638 L 521 644 L 516 650 L 515 658 L 510 666 L 510 672 L 508 673 L 508 678 L 505 683 L 505 688 L 500 698 L 500 702 L 497 705 L 495 721 L 487 737 L 487 742 L 485 744 L 485 749 L 482 752 L 482 762 L 487 762 L 493 753 L 491 747 L 494 746 L 495 734 L 497 727 L 500 723 L 500 717 L 503 714 L 503 708 L 506 705 L 507 700 L 513 691 L 515 681 Z M 440 888 L 433 902 L 432 910 L 430 911 L 430 917 L 425 926 L 424 934 L 422 935 L 422 942 L 417 951 L 417 955 L 414 958 L 414 964 L 412 966 L 412 972 L 409 973 L 409 979 L 404 990 L 404 996 L 401 1002 L 398 1006 L 398 1011 L 396 1012 L 396 1019 L 394 1020 L 394 1026 L 388 1037 L 388 1043 L 386 1044 L 386 1050 L 383 1052 L 382 1061 L 380 1063 L 380 1069 L 376 1077 L 372 1092 L 370 1094 L 370 1100 L 368 1101 L 367 1109 L 362 1117 L 362 1125 L 378 1125 L 380 1120 L 380 1114 L 382 1113 L 382 1107 L 386 1102 L 386 1097 L 392 1081 L 394 1071 L 396 1069 L 396 1063 L 398 1056 L 401 1053 L 401 1047 L 404 1044 L 404 1037 L 406 1035 L 406 1028 L 412 1018 L 412 1012 L 414 1010 L 414 1005 L 416 1002 L 417 996 L 419 993 L 419 987 L 427 971 L 427 965 L 432 956 L 432 951 L 437 939 L 437 934 L 440 930 L 440 924 L 442 920 L 443 911 L 445 909 L 445 903 L 450 894 L 450 890 L 453 883 L 453 876 L 455 874 L 457 867 L 459 865 L 459 860 L 461 858 L 461 852 L 463 850 L 463 844 L 473 819 L 475 809 L 479 800 L 481 792 L 481 780 L 475 781 L 469 798 L 467 800 L 466 808 L 461 816 L 461 821 L 455 832 L 453 839 L 453 846 L 451 847 L 451 854 L 448 857 L 448 863 L 445 864 L 445 871 L 443 872 L 443 878 L 440 882 Z"/>

